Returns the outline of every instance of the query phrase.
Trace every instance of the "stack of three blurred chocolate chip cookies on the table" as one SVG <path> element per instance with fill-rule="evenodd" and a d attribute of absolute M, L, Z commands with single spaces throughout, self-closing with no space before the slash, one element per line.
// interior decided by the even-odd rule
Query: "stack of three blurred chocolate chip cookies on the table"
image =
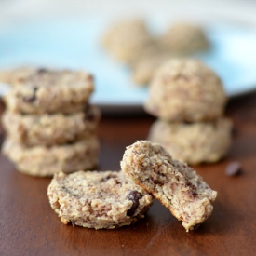
<path fill-rule="evenodd" d="M 88 103 L 90 74 L 29 69 L 8 80 L 3 152 L 21 172 L 51 176 L 97 166 L 100 111 Z"/>

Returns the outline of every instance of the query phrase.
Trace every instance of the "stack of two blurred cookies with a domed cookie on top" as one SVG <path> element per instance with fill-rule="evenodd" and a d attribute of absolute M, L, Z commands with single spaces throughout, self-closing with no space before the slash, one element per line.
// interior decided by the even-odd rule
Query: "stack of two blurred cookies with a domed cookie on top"
<path fill-rule="evenodd" d="M 156 71 L 145 110 L 155 121 L 149 140 L 188 164 L 216 162 L 231 143 L 232 123 L 223 117 L 220 78 L 200 61 L 174 59 Z"/>

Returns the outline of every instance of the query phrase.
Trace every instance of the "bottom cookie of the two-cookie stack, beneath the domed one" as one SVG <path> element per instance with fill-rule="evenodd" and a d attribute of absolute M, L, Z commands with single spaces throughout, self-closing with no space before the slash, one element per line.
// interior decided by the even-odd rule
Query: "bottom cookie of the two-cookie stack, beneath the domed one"
<path fill-rule="evenodd" d="M 232 122 L 220 118 L 212 122 L 168 123 L 157 120 L 148 140 L 164 146 L 168 153 L 188 164 L 217 162 L 231 144 Z"/>

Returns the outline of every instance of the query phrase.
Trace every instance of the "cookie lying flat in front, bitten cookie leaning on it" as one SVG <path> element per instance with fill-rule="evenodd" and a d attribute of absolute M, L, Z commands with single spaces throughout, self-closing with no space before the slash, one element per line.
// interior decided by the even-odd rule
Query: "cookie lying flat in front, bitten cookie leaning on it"
<path fill-rule="evenodd" d="M 153 201 L 152 195 L 116 171 L 57 173 L 47 195 L 61 222 L 95 229 L 135 223 Z"/>

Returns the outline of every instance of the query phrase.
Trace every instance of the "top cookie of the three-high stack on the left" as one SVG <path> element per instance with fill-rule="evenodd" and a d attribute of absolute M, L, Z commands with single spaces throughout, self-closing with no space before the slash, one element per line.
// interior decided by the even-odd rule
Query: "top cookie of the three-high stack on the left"
<path fill-rule="evenodd" d="M 85 72 L 34 69 L 13 81 L 5 101 L 21 114 L 71 114 L 82 111 L 92 93 L 93 78 Z"/>

